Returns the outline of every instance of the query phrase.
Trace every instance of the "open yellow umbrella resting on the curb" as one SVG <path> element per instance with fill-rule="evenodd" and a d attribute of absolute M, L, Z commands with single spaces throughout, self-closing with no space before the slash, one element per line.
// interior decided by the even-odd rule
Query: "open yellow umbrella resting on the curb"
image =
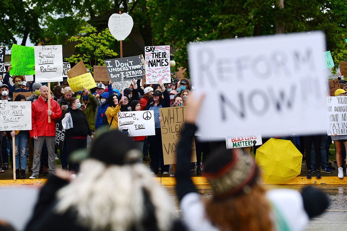
<path fill-rule="evenodd" d="M 300 174 L 302 157 L 289 140 L 271 138 L 257 149 L 255 162 L 265 183 L 283 184 Z"/>

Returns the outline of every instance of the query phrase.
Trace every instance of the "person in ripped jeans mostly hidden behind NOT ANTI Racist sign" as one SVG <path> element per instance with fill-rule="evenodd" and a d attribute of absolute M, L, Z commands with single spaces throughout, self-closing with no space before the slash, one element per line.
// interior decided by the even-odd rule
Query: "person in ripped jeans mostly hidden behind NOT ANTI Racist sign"
<path fill-rule="evenodd" d="M 25 97 L 19 94 L 17 95 L 15 101 L 25 101 Z M 29 145 L 28 135 L 29 135 L 28 131 L 26 130 L 11 131 L 11 136 L 15 137 L 16 179 L 25 179 L 26 150 Z M 10 139 L 9 141 L 10 141 L 10 144 L 12 145 L 12 139 Z M 20 155 L 20 172 L 19 172 L 19 155 Z"/>

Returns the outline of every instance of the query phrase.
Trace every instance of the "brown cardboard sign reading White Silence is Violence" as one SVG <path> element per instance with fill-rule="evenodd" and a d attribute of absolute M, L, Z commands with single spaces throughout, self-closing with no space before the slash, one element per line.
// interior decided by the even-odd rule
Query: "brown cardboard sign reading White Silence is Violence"
<path fill-rule="evenodd" d="M 164 164 L 176 164 L 177 144 L 181 138 L 184 121 L 187 117 L 187 107 L 160 108 L 161 140 L 163 143 Z M 196 162 L 195 140 L 192 142 L 191 162 Z"/>

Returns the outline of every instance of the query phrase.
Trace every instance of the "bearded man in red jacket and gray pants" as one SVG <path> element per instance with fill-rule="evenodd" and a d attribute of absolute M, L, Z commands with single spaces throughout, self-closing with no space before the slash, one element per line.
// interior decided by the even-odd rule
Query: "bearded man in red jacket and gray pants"
<path fill-rule="evenodd" d="M 34 159 L 33 159 L 33 174 L 29 179 L 39 178 L 40 156 L 44 140 L 46 140 L 48 150 L 48 166 L 49 174 L 52 175 L 56 170 L 55 153 L 54 153 L 54 138 L 56 136 L 56 123 L 61 117 L 61 110 L 58 103 L 53 99 L 48 99 L 48 87 L 40 88 L 41 95 L 39 99 L 31 104 L 31 122 L 32 130 L 30 137 L 35 139 Z M 51 101 L 51 108 L 48 108 L 48 100 Z M 51 116 L 51 122 L 48 123 L 48 116 Z"/>

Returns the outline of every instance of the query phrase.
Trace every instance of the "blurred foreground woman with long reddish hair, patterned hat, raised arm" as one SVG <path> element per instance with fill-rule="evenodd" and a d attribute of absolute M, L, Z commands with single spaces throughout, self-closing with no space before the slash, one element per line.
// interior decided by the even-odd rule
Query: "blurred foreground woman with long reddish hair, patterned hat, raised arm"
<path fill-rule="evenodd" d="M 205 166 L 205 177 L 213 189 L 203 202 L 189 172 L 191 146 L 197 130 L 195 120 L 203 97 L 187 100 L 187 118 L 177 147 L 176 191 L 188 230 L 275 231 L 304 230 L 310 217 L 328 206 L 327 197 L 312 187 L 265 191 L 252 156 L 240 149 L 214 153 Z"/>

